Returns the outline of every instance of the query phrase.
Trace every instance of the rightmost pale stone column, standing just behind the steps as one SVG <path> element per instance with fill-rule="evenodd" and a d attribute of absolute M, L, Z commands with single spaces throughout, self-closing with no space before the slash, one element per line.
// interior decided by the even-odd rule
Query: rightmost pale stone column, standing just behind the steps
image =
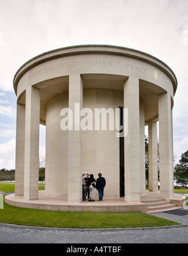
<path fill-rule="evenodd" d="M 169 93 L 159 95 L 160 197 L 174 195 L 172 108 Z"/>

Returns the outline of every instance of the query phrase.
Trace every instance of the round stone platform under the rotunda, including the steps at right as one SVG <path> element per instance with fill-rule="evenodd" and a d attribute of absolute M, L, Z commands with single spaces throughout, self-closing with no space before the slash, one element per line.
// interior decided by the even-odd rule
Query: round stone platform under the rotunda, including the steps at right
<path fill-rule="evenodd" d="M 124 198 L 108 198 L 95 202 L 83 201 L 80 204 L 70 204 L 66 198 L 56 196 L 46 196 L 45 191 L 39 191 L 38 199 L 25 200 L 23 196 L 15 196 L 9 194 L 5 197 L 5 203 L 21 208 L 44 209 L 53 211 L 95 211 L 95 212 L 123 212 L 123 211 L 169 211 L 170 209 L 178 209 L 184 202 L 184 196 L 174 194 L 174 198 L 165 201 L 160 198 L 160 192 L 146 191 L 145 196 L 141 196 L 141 203 L 127 203 Z M 154 208 L 151 208 L 154 204 Z"/>

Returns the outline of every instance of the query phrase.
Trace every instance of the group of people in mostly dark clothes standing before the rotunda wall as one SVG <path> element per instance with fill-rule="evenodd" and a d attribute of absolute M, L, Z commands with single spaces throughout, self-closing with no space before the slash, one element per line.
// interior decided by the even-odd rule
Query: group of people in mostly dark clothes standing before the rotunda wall
<path fill-rule="evenodd" d="M 84 176 L 85 172 L 82 172 L 82 201 L 88 199 L 88 201 L 90 202 L 95 202 L 95 200 L 93 199 L 95 189 L 98 190 L 99 201 L 102 201 L 104 188 L 106 185 L 105 178 L 102 177 L 101 173 L 98 174 L 97 181 L 94 179 L 93 174 L 86 174 L 86 177 Z"/>

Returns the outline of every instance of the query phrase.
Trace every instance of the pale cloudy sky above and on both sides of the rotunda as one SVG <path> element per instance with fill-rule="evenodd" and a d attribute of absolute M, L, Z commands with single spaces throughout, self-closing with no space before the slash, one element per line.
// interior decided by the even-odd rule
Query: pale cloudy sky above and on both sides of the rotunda
<path fill-rule="evenodd" d="M 15 167 L 13 78 L 30 58 L 55 48 L 118 45 L 164 61 L 179 82 L 174 155 L 188 150 L 187 0 L 0 0 L 0 169 Z M 41 126 L 40 154 L 44 154 Z"/>

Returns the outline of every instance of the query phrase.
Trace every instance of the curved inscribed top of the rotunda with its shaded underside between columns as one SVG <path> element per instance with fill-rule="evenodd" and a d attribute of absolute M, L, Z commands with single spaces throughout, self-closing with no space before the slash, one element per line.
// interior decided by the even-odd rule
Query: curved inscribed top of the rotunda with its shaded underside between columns
<path fill-rule="evenodd" d="M 51 97 L 68 91 L 68 75 L 71 74 L 82 75 L 83 89 L 88 88 L 88 80 L 89 87 L 98 87 L 96 81 L 101 79 L 109 81 L 108 84 L 101 83 L 101 87 L 118 91 L 123 91 L 123 81 L 127 77 L 137 77 L 140 80 L 142 101 L 146 101 L 146 91 L 149 100 L 152 94 L 156 101 L 157 94 L 165 91 L 168 91 L 173 99 L 177 89 L 174 72 L 164 62 L 151 55 L 123 47 L 81 45 L 46 52 L 26 62 L 14 77 L 14 90 L 18 101 L 24 102 L 24 91 L 29 86 L 38 87 L 43 99 L 41 123 L 45 123 L 46 104 Z M 50 95 L 47 95 L 47 87 Z M 157 109 L 154 112 L 146 113 L 146 120 L 155 119 Z"/>

